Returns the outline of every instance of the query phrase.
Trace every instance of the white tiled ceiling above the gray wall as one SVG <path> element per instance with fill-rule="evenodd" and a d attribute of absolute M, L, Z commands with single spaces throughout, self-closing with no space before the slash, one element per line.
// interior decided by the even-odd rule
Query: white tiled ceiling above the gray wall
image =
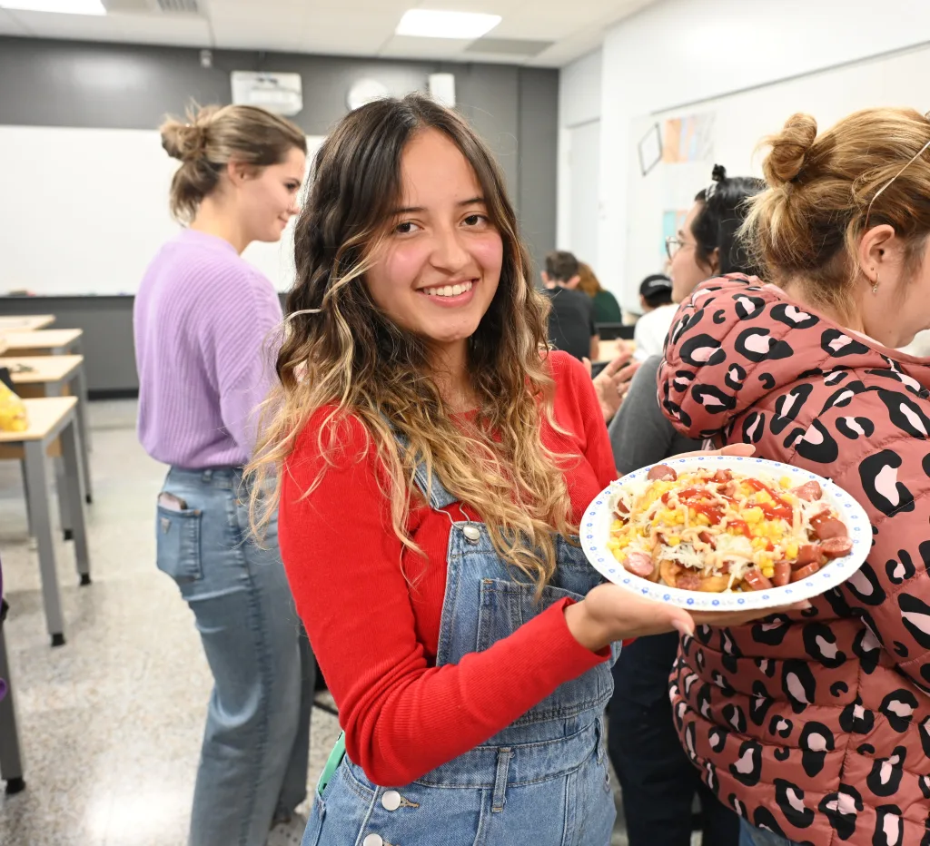
<path fill-rule="evenodd" d="M 0 10 L 0 34 L 169 46 L 217 46 L 349 56 L 525 63 L 520 55 L 463 53 L 469 41 L 398 36 L 408 8 L 501 15 L 493 38 L 555 41 L 528 63 L 558 67 L 600 44 L 616 20 L 656 0 L 198 0 L 205 17 L 54 15 Z M 207 20 L 208 19 L 208 20 Z M 211 33 L 215 33 L 215 41 Z"/>

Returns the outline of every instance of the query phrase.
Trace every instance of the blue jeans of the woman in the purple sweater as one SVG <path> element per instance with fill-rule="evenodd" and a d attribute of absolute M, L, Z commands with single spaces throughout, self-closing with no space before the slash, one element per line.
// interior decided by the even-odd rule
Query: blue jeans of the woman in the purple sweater
<path fill-rule="evenodd" d="M 315 665 L 277 520 L 259 547 L 241 488 L 239 469 L 171 468 L 163 491 L 185 508 L 158 506 L 158 567 L 193 611 L 214 681 L 190 846 L 264 846 L 306 797 Z"/>

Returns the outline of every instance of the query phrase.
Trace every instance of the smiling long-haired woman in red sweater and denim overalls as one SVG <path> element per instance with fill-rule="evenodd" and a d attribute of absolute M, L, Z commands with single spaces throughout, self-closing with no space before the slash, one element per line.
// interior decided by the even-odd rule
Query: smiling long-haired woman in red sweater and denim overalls
<path fill-rule="evenodd" d="M 616 469 L 498 166 L 429 99 L 352 112 L 297 268 L 256 469 L 347 752 L 304 846 L 606 846 L 610 644 L 693 620 L 570 539 Z"/>

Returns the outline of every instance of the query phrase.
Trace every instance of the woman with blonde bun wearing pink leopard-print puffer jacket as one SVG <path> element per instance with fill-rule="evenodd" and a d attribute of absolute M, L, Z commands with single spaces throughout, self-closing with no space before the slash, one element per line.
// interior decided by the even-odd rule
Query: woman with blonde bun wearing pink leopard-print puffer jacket
<path fill-rule="evenodd" d="M 691 437 L 830 477 L 868 561 L 807 611 L 698 628 L 671 678 L 684 748 L 742 843 L 930 846 L 930 121 L 857 112 L 770 139 L 748 237 L 672 324 L 659 399 Z"/>

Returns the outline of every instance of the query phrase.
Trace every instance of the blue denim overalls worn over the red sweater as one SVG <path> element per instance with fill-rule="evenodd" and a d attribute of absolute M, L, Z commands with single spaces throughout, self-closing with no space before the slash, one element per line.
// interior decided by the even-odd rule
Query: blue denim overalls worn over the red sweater
<path fill-rule="evenodd" d="M 430 484 L 423 467 L 417 483 L 432 509 L 457 501 L 435 476 Z M 484 523 L 449 520 L 437 667 L 487 649 L 600 582 L 581 549 L 560 537 L 558 569 L 538 602 L 535 585 L 498 558 Z M 608 846 L 616 812 L 602 714 L 611 663 L 566 682 L 482 746 L 404 787 L 378 787 L 343 757 L 316 793 L 301 846 Z"/>

